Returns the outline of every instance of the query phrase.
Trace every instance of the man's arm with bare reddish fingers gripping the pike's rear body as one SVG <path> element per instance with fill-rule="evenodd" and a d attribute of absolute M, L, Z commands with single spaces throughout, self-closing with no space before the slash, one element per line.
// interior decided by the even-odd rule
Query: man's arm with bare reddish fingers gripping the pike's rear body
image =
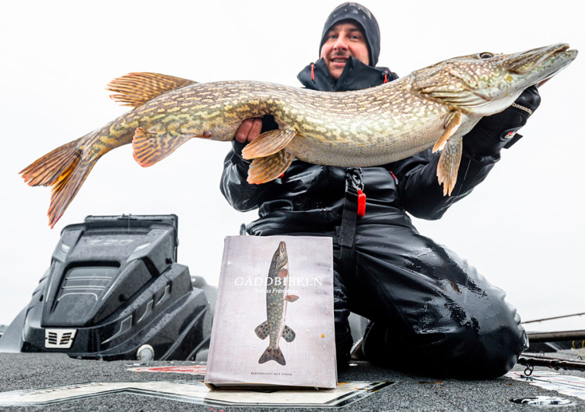
<path fill-rule="evenodd" d="M 223 161 L 223 174 L 221 174 L 220 190 L 225 199 L 238 211 L 256 209 L 263 203 L 263 194 L 272 185 L 272 182 L 261 185 L 247 183 L 247 172 L 250 161 L 242 158 L 242 149 L 258 135 L 278 128 L 272 116 L 263 119 L 245 119 L 232 141 L 232 150 Z"/>

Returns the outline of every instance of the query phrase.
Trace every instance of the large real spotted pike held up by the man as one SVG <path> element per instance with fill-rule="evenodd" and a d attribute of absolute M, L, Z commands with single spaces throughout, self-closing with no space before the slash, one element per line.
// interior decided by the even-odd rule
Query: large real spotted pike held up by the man
<path fill-rule="evenodd" d="M 472 54 L 381 86 L 331 93 L 263 82 L 196 83 L 155 73 L 110 82 L 113 100 L 133 110 L 34 161 L 21 174 L 32 186 L 52 186 L 53 227 L 87 174 L 110 150 L 133 144 L 134 158 L 151 166 L 193 137 L 230 141 L 248 117 L 274 115 L 279 130 L 243 150 L 254 159 L 248 183 L 272 181 L 296 157 L 332 166 L 374 166 L 442 150 L 437 177 L 451 194 L 461 161 L 461 138 L 483 116 L 510 106 L 533 84 L 569 65 L 577 50 L 557 44 L 515 54 Z"/>

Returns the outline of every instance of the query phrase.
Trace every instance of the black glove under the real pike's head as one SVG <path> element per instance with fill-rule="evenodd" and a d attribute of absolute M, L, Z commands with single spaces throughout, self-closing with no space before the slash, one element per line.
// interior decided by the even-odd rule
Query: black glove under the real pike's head
<path fill-rule="evenodd" d="M 483 117 L 473 130 L 463 137 L 463 150 L 472 157 L 497 157 L 502 148 L 509 148 L 522 137 L 516 132 L 526 124 L 539 105 L 538 89 L 531 86 L 505 111 Z"/>

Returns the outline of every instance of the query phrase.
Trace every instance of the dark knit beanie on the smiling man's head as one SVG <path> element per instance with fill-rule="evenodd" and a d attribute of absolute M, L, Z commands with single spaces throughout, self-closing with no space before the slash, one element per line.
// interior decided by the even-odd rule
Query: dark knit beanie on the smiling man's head
<path fill-rule="evenodd" d="M 366 42 L 368 43 L 368 51 L 370 52 L 370 65 L 375 66 L 380 55 L 380 28 L 372 12 L 357 3 L 343 3 L 342 5 L 338 5 L 329 14 L 323 26 L 323 34 L 321 35 L 321 43 L 319 44 L 319 55 L 321 55 L 321 47 L 324 43 L 325 34 L 340 21 L 348 19 L 355 21 L 362 27 L 362 32 L 364 32 Z"/>

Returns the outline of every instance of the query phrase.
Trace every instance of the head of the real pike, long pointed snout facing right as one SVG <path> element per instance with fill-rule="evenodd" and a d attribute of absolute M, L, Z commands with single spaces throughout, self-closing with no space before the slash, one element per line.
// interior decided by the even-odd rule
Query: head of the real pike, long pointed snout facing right
<path fill-rule="evenodd" d="M 460 56 L 412 73 L 416 93 L 465 113 L 503 111 L 533 84 L 542 84 L 577 57 L 558 43 L 514 54 Z"/>

